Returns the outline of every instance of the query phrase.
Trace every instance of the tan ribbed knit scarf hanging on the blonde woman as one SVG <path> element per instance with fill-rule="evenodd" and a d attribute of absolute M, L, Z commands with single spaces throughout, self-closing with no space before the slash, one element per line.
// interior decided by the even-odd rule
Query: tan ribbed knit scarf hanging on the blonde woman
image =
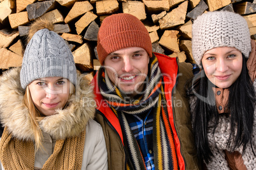
<path fill-rule="evenodd" d="M 81 169 L 85 131 L 80 136 L 57 140 L 53 154 L 42 169 Z M 5 170 L 34 169 L 34 144 L 18 140 L 4 128 L 0 141 L 0 159 Z"/>

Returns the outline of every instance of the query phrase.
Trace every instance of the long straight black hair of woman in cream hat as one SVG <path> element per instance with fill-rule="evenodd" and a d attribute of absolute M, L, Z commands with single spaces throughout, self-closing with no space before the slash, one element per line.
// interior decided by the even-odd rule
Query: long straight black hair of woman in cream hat
<path fill-rule="evenodd" d="M 206 77 L 204 70 L 199 72 L 188 88 L 188 95 L 196 96 L 196 105 L 192 112 L 192 126 L 199 158 L 208 164 L 213 159 L 208 141 L 208 129 L 217 128 L 220 114 L 218 114 L 215 95 L 212 87 L 215 87 Z M 255 110 L 255 89 L 248 74 L 246 58 L 243 55 L 243 68 L 238 79 L 229 88 L 227 107 L 230 110 L 231 131 L 227 147 L 231 151 L 243 146 L 252 147 L 252 132 Z M 253 148 L 252 148 L 253 150 Z M 254 151 L 253 154 L 255 155 Z"/>

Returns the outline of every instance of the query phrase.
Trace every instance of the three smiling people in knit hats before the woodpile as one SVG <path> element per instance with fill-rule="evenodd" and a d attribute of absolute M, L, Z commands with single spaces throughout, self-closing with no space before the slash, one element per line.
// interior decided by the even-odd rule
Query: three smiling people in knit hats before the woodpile
<path fill-rule="evenodd" d="M 256 168 L 255 41 L 242 16 L 194 20 L 196 75 L 153 53 L 129 14 L 101 23 L 90 84 L 51 23 L 30 37 L 22 67 L 0 78 L 1 169 Z"/>

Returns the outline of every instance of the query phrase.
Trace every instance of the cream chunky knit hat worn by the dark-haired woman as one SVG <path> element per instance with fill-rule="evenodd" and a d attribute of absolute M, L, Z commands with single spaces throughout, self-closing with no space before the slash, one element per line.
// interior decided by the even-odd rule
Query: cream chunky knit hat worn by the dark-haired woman
<path fill-rule="evenodd" d="M 198 16 L 192 25 L 192 54 L 201 67 L 206 51 L 234 47 L 246 58 L 251 51 L 250 31 L 243 16 L 229 11 L 213 11 Z"/>

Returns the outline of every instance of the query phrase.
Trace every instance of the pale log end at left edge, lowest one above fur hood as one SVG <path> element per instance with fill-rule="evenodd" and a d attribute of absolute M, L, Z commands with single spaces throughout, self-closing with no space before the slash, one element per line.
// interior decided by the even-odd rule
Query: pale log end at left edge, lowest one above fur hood
<path fill-rule="evenodd" d="M 20 67 L 22 65 L 22 56 L 19 56 L 6 48 L 0 48 L 0 54 L 0 69 L 9 69 L 10 67 Z"/>

